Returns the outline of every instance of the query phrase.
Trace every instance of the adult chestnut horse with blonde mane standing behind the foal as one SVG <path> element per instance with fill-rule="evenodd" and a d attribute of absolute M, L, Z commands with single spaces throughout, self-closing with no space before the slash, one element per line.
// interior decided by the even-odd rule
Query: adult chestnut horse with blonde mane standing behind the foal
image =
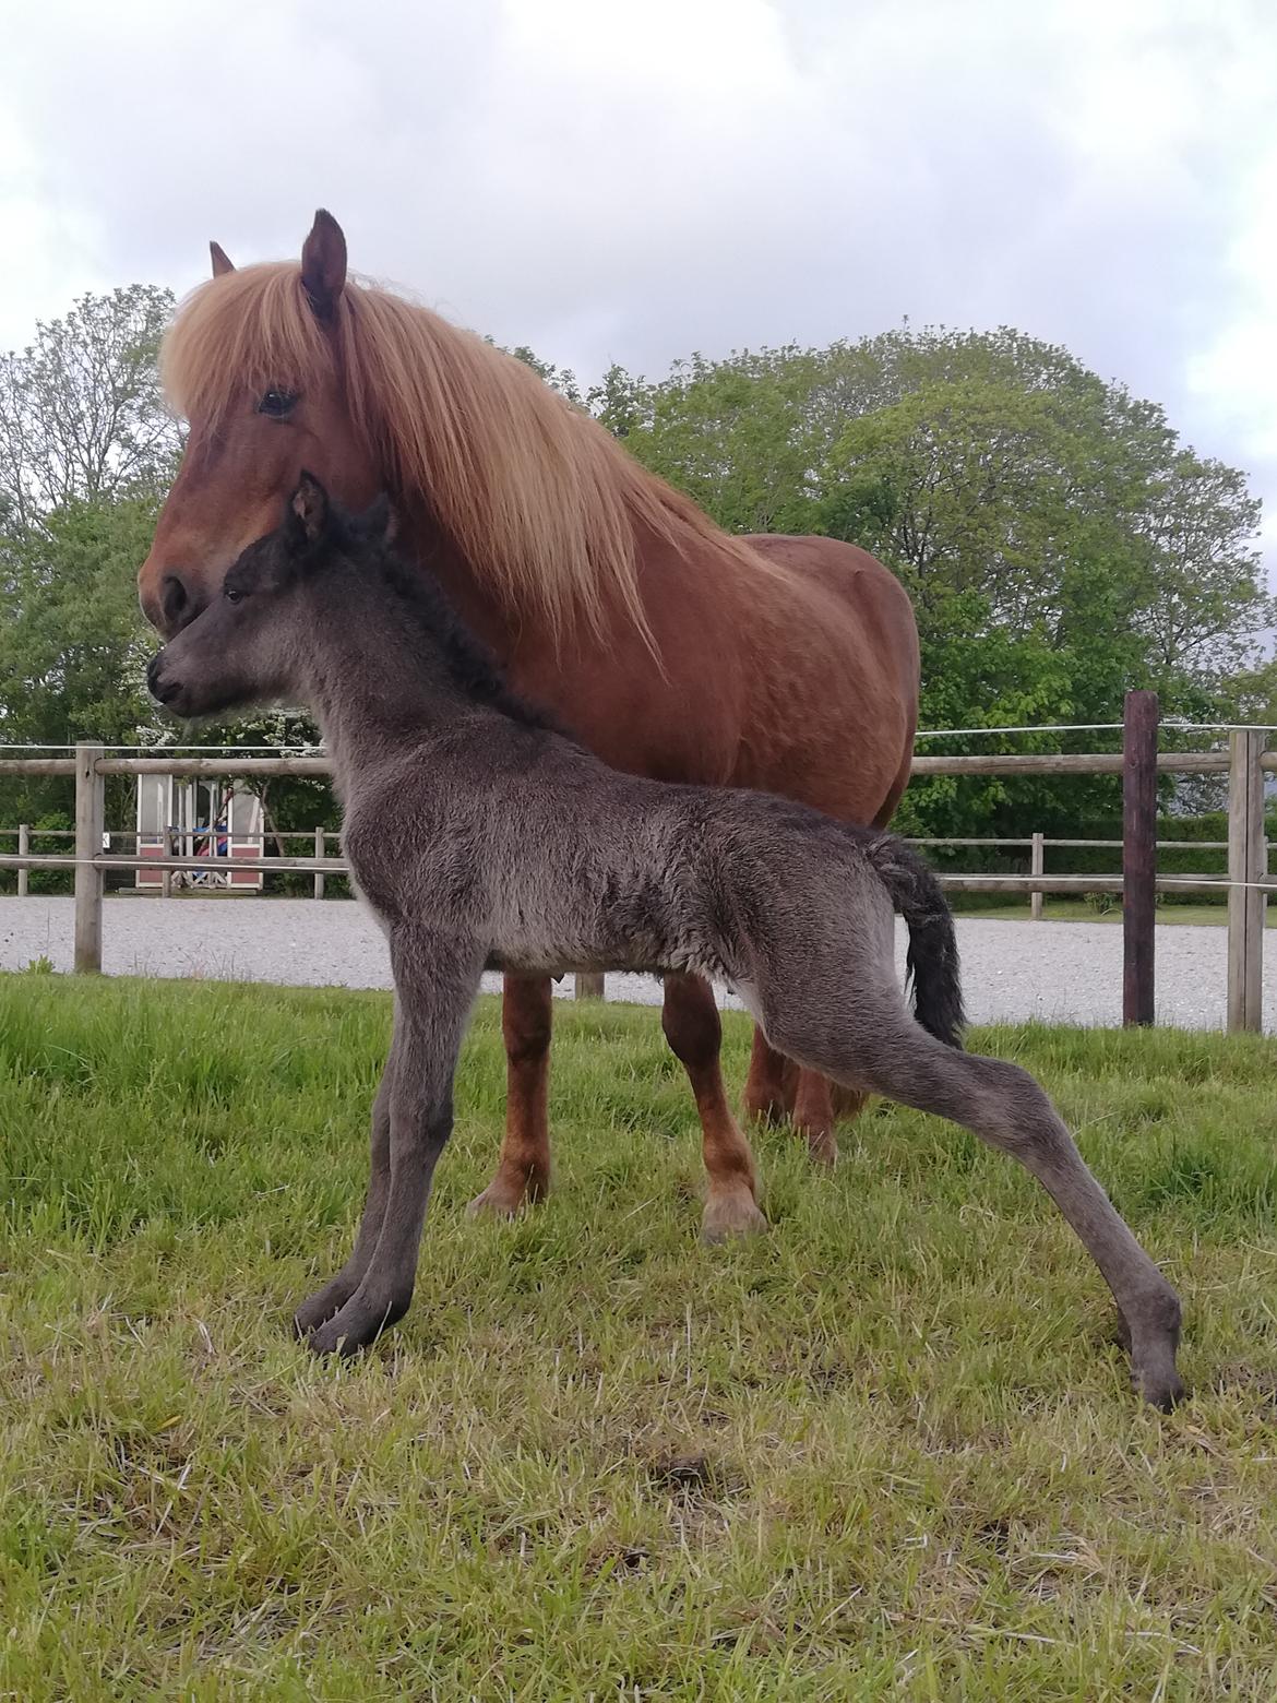
<path fill-rule="evenodd" d="M 873 557 L 729 536 L 521 361 L 349 279 L 325 211 L 300 266 L 237 271 L 211 252 L 213 279 L 162 351 L 189 438 L 138 574 L 160 632 L 201 611 L 306 467 L 349 506 L 388 490 L 404 552 L 429 562 L 514 688 L 606 763 L 885 826 L 909 778 L 918 634 Z M 705 1235 L 759 1228 L 707 983 L 669 976 L 662 1025 L 700 1112 Z M 550 1178 L 548 981 L 506 978 L 502 1030 L 506 1139 L 475 1207 L 514 1213 Z M 829 1083 L 761 1034 L 746 1107 L 792 1114 L 833 1160 Z"/>

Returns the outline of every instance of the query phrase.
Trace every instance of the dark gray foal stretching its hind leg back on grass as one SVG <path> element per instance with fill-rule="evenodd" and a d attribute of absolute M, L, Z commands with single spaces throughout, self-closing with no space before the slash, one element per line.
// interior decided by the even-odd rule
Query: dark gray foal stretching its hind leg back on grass
<path fill-rule="evenodd" d="M 409 1306 L 482 971 L 684 971 L 734 986 L 800 1064 L 1018 1158 L 1112 1289 L 1136 1386 L 1163 1408 L 1182 1395 L 1175 1291 L 1034 1078 L 960 1051 L 948 906 L 899 840 L 766 794 L 608 768 L 507 691 L 429 572 L 397 559 L 385 502 L 356 519 L 305 473 L 281 528 L 148 678 L 179 715 L 310 705 L 346 857 L 390 943 L 395 1025 L 363 1221 L 296 1313 L 317 1352 L 351 1354 Z M 741 1187 L 753 1199 L 753 1175 Z"/>

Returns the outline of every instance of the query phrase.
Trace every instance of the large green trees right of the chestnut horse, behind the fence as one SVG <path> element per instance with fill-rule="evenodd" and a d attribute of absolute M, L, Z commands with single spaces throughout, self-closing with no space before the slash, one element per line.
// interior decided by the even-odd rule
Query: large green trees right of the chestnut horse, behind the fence
<path fill-rule="evenodd" d="M 918 615 L 926 729 L 1114 722 L 1132 686 L 1156 688 L 1168 715 L 1217 715 L 1272 622 L 1245 477 L 1182 444 L 1154 404 L 1013 330 L 906 325 L 693 358 L 661 383 L 613 370 L 589 400 L 729 530 L 827 533 L 885 562 Z M 901 819 L 993 833 L 1032 814 L 1062 833 L 1112 794 L 935 780 Z"/>

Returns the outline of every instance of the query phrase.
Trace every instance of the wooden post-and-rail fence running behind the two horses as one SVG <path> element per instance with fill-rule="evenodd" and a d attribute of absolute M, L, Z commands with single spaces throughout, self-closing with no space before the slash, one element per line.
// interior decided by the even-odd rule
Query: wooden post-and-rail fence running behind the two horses
<path fill-rule="evenodd" d="M 1131 693 L 1131 700 L 1149 693 Z M 1134 727 L 1134 732 L 1132 732 Z M 918 756 L 914 775 L 1122 775 L 1124 812 L 1122 872 L 1112 875 L 1047 875 L 1044 855 L 1051 845 L 1102 846 L 1119 841 L 1059 840 L 1042 834 L 1025 840 L 931 840 L 919 845 L 988 845 L 1030 846 L 1028 875 L 940 875 L 952 892 L 1022 892 L 1037 901 L 1040 894 L 1114 892 L 1124 896 L 1124 1020 L 1153 1020 L 1154 974 L 1154 892 L 1228 891 L 1228 1027 L 1258 1030 L 1262 1027 L 1263 913 L 1267 894 L 1277 892 L 1268 875 L 1268 848 L 1263 838 L 1263 777 L 1277 773 L 1277 753 L 1263 749 L 1265 734 L 1257 729 L 1229 732 L 1228 751 L 1158 751 L 1156 705 L 1127 705 L 1127 739 L 1122 753 L 1034 754 L 1034 756 Z M 104 850 L 104 782 L 112 775 L 175 777 L 243 777 L 278 775 L 325 777 L 322 758 L 262 756 L 107 756 L 100 744 L 78 744 L 68 758 L 5 758 L 3 775 L 63 775 L 75 778 L 75 848 L 72 855 L 32 853 L 31 829 L 17 829 L 17 853 L 0 853 L 0 869 L 70 869 L 75 872 L 75 969 L 102 967 L 102 877 L 109 870 L 206 870 L 208 858 L 163 857 L 140 858 L 135 852 Z M 1153 802 L 1158 775 L 1228 775 L 1228 877 L 1158 875 Z M 14 829 L 9 829 L 12 834 Z M 135 838 L 112 834 L 112 840 Z M 238 869 L 266 874 L 306 872 L 313 875 L 313 892 L 324 892 L 325 875 L 346 875 L 339 857 L 327 857 L 324 829 L 303 833 L 312 840 L 312 857 L 237 858 Z M 1200 845 L 1223 850 L 1221 841 L 1163 841 L 1163 846 Z M 1137 897 L 1137 903 L 1132 899 Z M 577 996 L 603 991 L 603 978 L 577 976 Z"/>

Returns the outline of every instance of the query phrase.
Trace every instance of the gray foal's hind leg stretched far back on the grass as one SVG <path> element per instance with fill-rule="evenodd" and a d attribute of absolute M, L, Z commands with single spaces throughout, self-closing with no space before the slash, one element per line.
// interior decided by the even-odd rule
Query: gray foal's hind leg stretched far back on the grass
<path fill-rule="evenodd" d="M 845 1051 L 819 1063 L 855 1087 L 965 1124 L 1037 1177 L 1114 1293 L 1136 1386 L 1154 1407 L 1170 1408 L 1183 1395 L 1175 1369 L 1180 1299 L 1086 1168 L 1034 1078 L 1018 1064 L 950 1051 L 904 1012 L 899 1024 Z"/>

